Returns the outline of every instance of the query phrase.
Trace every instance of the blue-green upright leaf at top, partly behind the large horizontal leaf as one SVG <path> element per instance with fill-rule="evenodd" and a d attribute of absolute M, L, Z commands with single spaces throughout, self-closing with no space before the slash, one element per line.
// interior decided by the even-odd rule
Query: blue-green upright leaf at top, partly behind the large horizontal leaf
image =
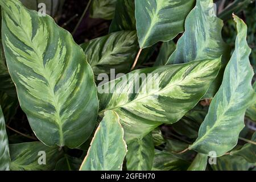
<path fill-rule="evenodd" d="M 185 32 L 167 64 L 187 63 L 192 60 L 216 59 L 222 56 L 222 68 L 204 98 L 212 98 L 221 85 L 229 47 L 221 37 L 223 22 L 214 14 L 212 0 L 200 0 L 185 20 Z"/>

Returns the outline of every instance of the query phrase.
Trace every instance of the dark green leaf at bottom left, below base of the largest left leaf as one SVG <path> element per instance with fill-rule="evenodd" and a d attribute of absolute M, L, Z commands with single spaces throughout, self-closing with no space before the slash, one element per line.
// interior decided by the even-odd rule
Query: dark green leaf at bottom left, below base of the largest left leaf
<path fill-rule="evenodd" d="M 63 151 L 42 142 L 28 142 L 10 144 L 10 155 L 12 171 L 49 171 L 55 168 Z"/>

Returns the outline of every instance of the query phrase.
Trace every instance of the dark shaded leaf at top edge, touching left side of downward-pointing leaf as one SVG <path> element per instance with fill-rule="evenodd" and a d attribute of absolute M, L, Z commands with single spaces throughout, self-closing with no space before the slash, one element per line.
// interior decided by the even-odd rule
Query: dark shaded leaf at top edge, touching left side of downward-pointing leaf
<path fill-rule="evenodd" d="M 120 30 L 136 30 L 134 0 L 117 0 L 114 18 L 109 27 L 109 33 Z"/>

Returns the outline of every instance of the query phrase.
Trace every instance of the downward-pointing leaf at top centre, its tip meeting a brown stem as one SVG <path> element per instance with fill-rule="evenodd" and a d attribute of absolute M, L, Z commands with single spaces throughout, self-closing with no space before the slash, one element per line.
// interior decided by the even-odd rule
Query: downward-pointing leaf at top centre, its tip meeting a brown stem
<path fill-rule="evenodd" d="M 184 22 L 194 0 L 135 0 L 135 18 L 139 46 L 166 42 L 184 31 Z"/>

